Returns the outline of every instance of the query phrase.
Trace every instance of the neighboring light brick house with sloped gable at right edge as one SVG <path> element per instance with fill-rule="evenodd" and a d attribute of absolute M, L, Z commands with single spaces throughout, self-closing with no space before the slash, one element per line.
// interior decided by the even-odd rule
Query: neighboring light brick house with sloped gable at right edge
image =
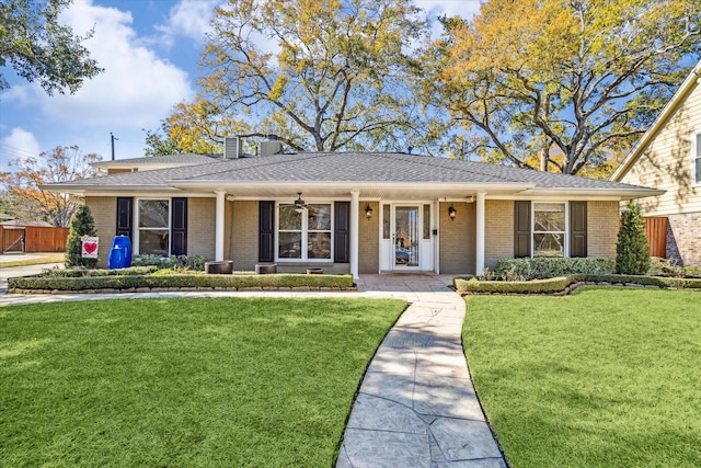
<path fill-rule="evenodd" d="M 611 176 L 666 191 L 641 199 L 641 214 L 648 222 L 668 220 L 660 239 L 650 236 L 651 244 L 663 241 L 660 253 L 685 265 L 701 265 L 700 77 L 701 62 Z"/>

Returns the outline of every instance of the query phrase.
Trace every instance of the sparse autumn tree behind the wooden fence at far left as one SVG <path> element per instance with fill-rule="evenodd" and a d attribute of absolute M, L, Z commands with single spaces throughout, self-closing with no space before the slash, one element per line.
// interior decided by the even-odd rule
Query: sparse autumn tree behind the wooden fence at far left
<path fill-rule="evenodd" d="M 42 186 L 94 176 L 99 171 L 90 163 L 100 160 L 97 155 L 81 152 L 78 146 L 58 146 L 50 153 L 42 152 L 38 157 L 10 161 L 10 170 L 0 172 L 0 183 L 5 196 L 15 201 L 10 206 L 16 210 L 13 214 L 18 218 L 26 219 L 36 215 L 54 226 L 68 227 L 81 205 L 80 201 L 66 194 L 45 191 Z"/>

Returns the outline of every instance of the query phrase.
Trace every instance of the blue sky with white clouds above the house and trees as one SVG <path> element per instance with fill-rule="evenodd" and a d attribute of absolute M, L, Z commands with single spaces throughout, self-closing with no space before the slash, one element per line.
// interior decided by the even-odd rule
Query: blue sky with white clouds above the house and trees
<path fill-rule="evenodd" d="M 94 26 L 85 42 L 105 71 L 72 95 L 46 93 L 0 72 L 10 88 L 0 91 L 0 171 L 15 158 L 57 146 L 78 145 L 82 152 L 111 159 L 143 156 L 143 129 L 158 129 L 173 105 L 197 92 L 197 62 L 204 33 L 225 0 L 73 0 L 62 21 L 78 34 Z M 429 19 L 440 14 L 472 16 L 478 0 L 414 0 Z M 438 31 L 438 26 L 436 26 Z"/>

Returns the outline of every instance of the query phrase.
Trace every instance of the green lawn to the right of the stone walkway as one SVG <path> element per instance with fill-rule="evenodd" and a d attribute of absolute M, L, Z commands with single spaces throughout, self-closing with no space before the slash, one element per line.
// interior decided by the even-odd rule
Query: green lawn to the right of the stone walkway
<path fill-rule="evenodd" d="M 701 293 L 475 296 L 463 339 L 513 467 L 701 466 Z"/>

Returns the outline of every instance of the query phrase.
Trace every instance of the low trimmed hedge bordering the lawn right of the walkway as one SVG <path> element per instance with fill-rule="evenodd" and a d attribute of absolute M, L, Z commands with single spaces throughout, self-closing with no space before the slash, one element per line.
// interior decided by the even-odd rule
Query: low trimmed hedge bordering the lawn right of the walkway
<path fill-rule="evenodd" d="M 577 274 L 549 279 L 525 282 L 478 281 L 476 278 L 455 278 L 453 286 L 463 294 L 558 294 L 566 292 L 572 285 L 579 283 L 610 285 L 656 286 L 675 289 L 701 289 L 701 278 L 671 278 L 660 276 L 633 275 L 588 275 Z"/>

